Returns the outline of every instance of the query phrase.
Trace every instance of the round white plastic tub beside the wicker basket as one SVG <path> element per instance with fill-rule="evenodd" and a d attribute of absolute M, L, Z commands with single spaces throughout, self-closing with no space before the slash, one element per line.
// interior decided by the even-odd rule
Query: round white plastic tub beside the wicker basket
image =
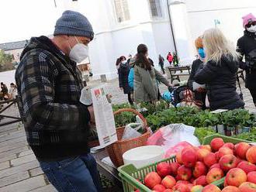
<path fill-rule="evenodd" d="M 161 161 L 164 149 L 161 146 L 140 146 L 123 153 L 123 163 L 132 163 L 137 169 Z"/>

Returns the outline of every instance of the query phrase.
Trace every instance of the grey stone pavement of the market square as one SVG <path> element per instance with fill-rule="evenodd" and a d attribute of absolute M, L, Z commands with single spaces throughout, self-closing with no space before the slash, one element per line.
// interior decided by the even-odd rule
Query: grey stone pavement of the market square
<path fill-rule="evenodd" d="M 89 82 L 91 86 L 97 84 L 101 83 L 99 81 Z M 109 81 L 106 84 L 109 87 L 109 92 L 113 95 L 112 102 L 114 104 L 127 102 L 126 95 L 119 91 L 117 80 Z M 256 112 L 251 95 L 247 89 L 243 89 L 246 108 Z M 167 88 L 161 85 L 161 92 L 165 90 Z M 15 106 L 12 106 L 5 114 L 18 115 L 19 112 Z M 5 121 L 7 120 L 2 120 L 2 122 Z M 29 149 L 23 126 L 20 123 L 0 128 L 0 191 L 56 191 L 44 177 L 36 157 Z"/>

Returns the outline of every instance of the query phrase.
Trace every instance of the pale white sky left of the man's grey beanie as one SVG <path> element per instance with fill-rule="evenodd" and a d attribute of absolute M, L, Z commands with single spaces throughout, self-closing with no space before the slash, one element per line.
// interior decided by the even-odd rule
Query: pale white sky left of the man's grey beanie
<path fill-rule="evenodd" d="M 52 34 L 63 11 L 58 1 L 56 8 L 54 0 L 2 0 L 0 43 Z"/>

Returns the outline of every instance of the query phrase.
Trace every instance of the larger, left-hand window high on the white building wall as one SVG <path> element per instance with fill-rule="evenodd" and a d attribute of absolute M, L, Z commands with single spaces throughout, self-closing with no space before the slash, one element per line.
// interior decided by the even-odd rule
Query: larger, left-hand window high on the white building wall
<path fill-rule="evenodd" d="M 114 0 L 116 9 L 116 18 L 118 22 L 130 20 L 130 12 L 127 0 Z"/>

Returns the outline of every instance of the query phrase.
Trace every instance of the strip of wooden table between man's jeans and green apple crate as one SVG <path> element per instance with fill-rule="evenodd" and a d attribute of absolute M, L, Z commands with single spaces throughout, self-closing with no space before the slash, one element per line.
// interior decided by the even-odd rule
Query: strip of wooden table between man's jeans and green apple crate
<path fill-rule="evenodd" d="M 116 190 L 112 190 L 112 192 L 121 192 L 123 191 L 123 184 L 121 178 L 118 175 L 118 170 L 113 168 L 112 166 L 107 165 L 106 163 L 102 162 L 102 159 L 109 156 L 105 149 L 92 154 L 95 157 L 99 173 L 105 175 L 114 185 L 116 186 Z"/>

